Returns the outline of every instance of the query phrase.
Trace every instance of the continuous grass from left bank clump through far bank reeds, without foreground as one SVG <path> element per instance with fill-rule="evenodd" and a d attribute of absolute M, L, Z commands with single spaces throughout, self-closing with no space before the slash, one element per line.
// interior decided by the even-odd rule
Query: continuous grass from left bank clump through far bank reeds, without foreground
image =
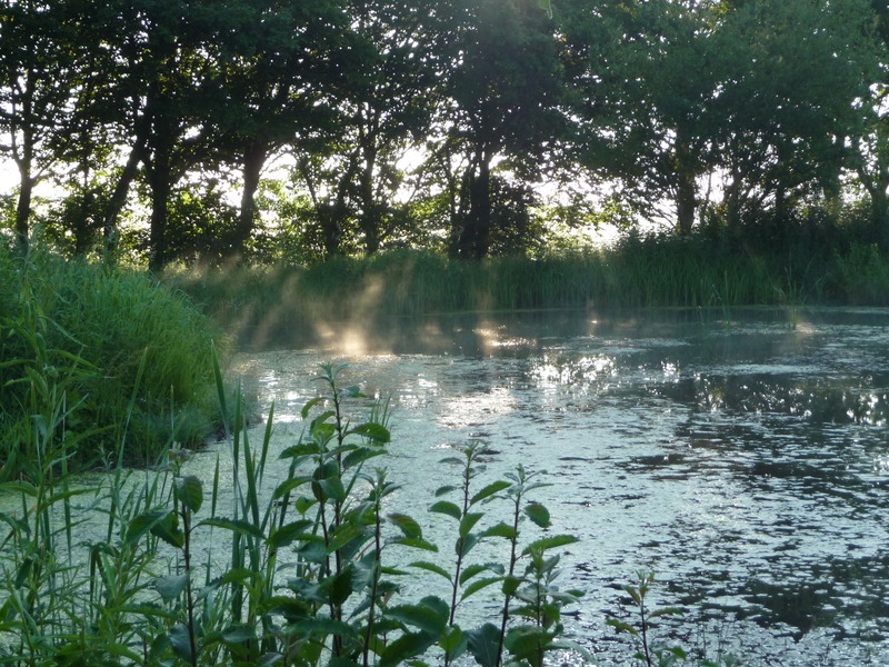
<path fill-rule="evenodd" d="M 440 313 L 889 305 L 889 259 L 862 230 L 799 223 L 768 238 L 703 228 L 687 237 L 630 232 L 613 246 L 537 257 L 467 261 L 401 249 L 309 266 L 179 263 L 159 273 L 66 258 L 40 239 L 24 257 L 0 246 L 0 478 L 28 458 L 31 446 L 21 442 L 33 435 L 34 378 L 47 372 L 68 401 L 47 419 L 89 442 L 78 465 L 109 467 L 122 430 L 128 462 L 142 464 L 172 442 L 194 448 L 218 434 L 211 355 L 224 366 L 238 347 L 311 340 L 299 331 L 324 329 L 336 340 L 347 328 L 392 330 L 393 318 Z"/>

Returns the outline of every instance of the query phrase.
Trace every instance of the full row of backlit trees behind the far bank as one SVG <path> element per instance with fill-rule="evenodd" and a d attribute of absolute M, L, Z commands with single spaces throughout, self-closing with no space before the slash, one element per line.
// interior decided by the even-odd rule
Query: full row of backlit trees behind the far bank
<path fill-rule="evenodd" d="M 482 258 L 603 220 L 813 210 L 889 242 L 881 0 L 1 0 L 0 20 L 19 243 Z"/>

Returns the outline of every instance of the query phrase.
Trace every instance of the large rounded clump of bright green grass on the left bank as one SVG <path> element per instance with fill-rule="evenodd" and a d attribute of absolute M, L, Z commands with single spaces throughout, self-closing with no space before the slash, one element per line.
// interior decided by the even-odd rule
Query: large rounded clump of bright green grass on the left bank
<path fill-rule="evenodd" d="M 200 444 L 218 414 L 214 341 L 184 295 L 144 272 L 0 248 L 0 477 L 47 456 L 103 465 L 124 441 L 129 462 Z"/>

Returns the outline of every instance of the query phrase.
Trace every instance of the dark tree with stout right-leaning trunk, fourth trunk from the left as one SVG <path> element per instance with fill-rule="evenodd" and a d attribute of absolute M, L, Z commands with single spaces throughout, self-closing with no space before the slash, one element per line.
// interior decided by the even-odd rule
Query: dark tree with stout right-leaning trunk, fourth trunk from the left
<path fill-rule="evenodd" d="M 269 158 L 300 137 L 334 129 L 334 92 L 354 62 L 349 16 L 340 0 L 228 0 L 216 12 L 217 67 L 206 84 L 203 121 L 220 159 L 241 173 L 241 201 L 229 253 L 244 251 L 258 218 L 256 201 Z"/>

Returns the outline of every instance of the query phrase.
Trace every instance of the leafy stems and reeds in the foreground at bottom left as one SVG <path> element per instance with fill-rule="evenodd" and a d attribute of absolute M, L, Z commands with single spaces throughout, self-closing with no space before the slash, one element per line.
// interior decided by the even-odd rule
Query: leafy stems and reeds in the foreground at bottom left
<path fill-rule="evenodd" d="M 66 441 L 41 440 L 54 449 L 41 450 L 46 456 L 36 464 L 34 481 L 0 489 L 22 498 L 20 512 L 0 514 L 9 529 L 0 542 L 4 661 L 392 667 L 417 664 L 430 653 L 443 651 L 449 661 L 468 649 L 485 666 L 496 667 L 507 651 L 512 664 L 540 667 L 546 651 L 568 646 L 560 641 L 559 610 L 579 593 L 552 584 L 558 557 L 548 551 L 573 538 L 520 545 L 522 517 L 549 526 L 549 512 L 525 499 L 541 485 L 519 468 L 470 491 L 468 480 L 480 471 L 478 446 L 458 459 L 463 494 L 471 494 L 465 510 L 453 506 L 461 515 L 458 554 L 468 555 L 483 539 L 507 539 L 510 563 L 508 568 L 458 563 L 453 571 L 438 566 L 432 571 L 462 589 L 462 599 L 500 584 L 499 627 L 489 623 L 463 631 L 456 623 L 457 603 L 436 595 L 404 598 L 407 573 L 399 566 L 406 557 L 399 552 L 438 549 L 417 520 L 387 509 L 398 486 L 370 465 L 390 439 L 388 410 L 374 405 L 369 419 L 353 417 L 369 401 L 358 386 L 343 384 L 344 371 L 342 365 L 321 368 L 324 390 L 304 406 L 306 430 L 281 454 L 289 475 L 268 492 L 274 408 L 253 447 L 241 399 L 236 395 L 227 405 L 214 362 L 232 466 L 230 508 L 220 506 L 220 459 L 209 484 L 188 474 L 188 454 L 172 448 L 157 474 L 119 468 L 100 485 L 81 487 L 64 469 L 57 471 Z M 57 399 L 34 395 L 34 407 L 49 409 Z M 502 494 L 515 506 L 512 525 L 481 528 L 480 507 Z M 433 514 L 442 507 L 437 506 Z M 73 528 L 97 512 L 107 516 L 103 536 L 76 542 Z M 218 550 L 226 542 L 228 558 Z M 210 552 L 199 563 L 203 545 Z M 77 554 L 81 547 L 83 559 Z M 516 568 L 520 561 L 527 564 L 523 574 Z"/>

